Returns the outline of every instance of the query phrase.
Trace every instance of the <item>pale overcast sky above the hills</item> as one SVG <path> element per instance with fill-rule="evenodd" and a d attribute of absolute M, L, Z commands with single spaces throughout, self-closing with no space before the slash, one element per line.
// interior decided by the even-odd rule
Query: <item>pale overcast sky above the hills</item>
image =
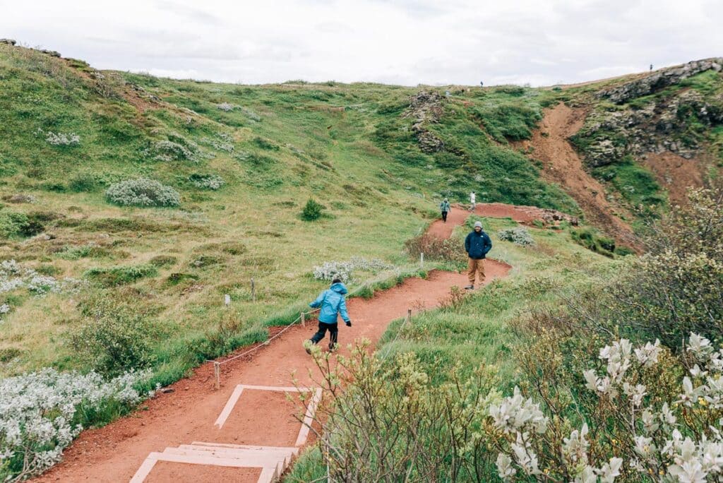
<path fill-rule="evenodd" d="M 551 85 L 723 56 L 723 1 L 0 0 L 0 37 L 223 82 Z"/>

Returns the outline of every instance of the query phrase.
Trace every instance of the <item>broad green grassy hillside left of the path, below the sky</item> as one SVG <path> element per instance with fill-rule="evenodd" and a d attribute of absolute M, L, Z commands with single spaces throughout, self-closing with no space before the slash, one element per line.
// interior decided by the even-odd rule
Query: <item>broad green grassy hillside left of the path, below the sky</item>
<path fill-rule="evenodd" d="M 715 75 L 687 88 L 719 95 Z M 86 369 L 95 359 L 79 355 L 82 328 L 140 305 L 149 360 L 173 380 L 264 338 L 279 312 L 324 286 L 315 265 L 394 267 L 361 267 L 353 286 L 413 271 L 403 244 L 443 196 L 474 189 L 482 202 L 581 215 L 510 143 L 560 101 L 607 106 L 591 95 L 602 87 L 224 85 L 99 72 L 0 44 L 0 258 L 40 277 L 40 288 L 0 293 L 0 374 Z M 706 130 L 711 145 L 719 131 Z M 137 178 L 180 202 L 134 208 L 106 196 Z M 301 217 L 309 199 L 323 207 L 314 222 Z M 108 298 L 116 309 L 99 306 Z"/>

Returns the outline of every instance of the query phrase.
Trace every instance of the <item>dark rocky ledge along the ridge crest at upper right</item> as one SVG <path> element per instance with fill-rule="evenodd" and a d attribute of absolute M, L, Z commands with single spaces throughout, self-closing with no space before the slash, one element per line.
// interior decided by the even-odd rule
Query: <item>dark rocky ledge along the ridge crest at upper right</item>
<path fill-rule="evenodd" d="M 677 84 L 681 80 L 711 69 L 716 72 L 721 72 L 721 70 L 723 70 L 723 58 L 714 57 L 712 59 L 688 62 L 688 64 L 677 67 L 660 69 L 642 79 L 602 90 L 598 95 L 600 98 L 608 98 L 614 103 L 622 104 L 630 101 L 630 99 L 654 93 L 656 90 Z"/>

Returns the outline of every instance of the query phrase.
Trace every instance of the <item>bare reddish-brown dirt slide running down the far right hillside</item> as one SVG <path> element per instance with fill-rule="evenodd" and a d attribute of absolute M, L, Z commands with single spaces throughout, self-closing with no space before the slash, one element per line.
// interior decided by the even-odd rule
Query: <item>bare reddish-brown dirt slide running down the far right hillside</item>
<path fill-rule="evenodd" d="M 582 109 L 557 104 L 545 110 L 542 123 L 533 132 L 532 139 L 518 145 L 524 149 L 534 148 L 530 157 L 542 161 L 542 177 L 560 184 L 578 202 L 590 223 L 620 242 L 634 244 L 632 228 L 615 215 L 624 213 L 623 209 L 606 200 L 604 187 L 585 171 L 580 156 L 568 141 L 583 127 L 584 121 Z"/>

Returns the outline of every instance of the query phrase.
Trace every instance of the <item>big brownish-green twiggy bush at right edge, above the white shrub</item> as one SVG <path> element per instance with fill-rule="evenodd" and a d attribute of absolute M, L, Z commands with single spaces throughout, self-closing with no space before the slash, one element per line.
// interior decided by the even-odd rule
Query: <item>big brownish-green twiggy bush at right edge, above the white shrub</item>
<path fill-rule="evenodd" d="M 615 286 L 635 330 L 677 347 L 690 332 L 723 340 L 723 186 L 690 192 L 646 236 L 649 253 Z"/>

